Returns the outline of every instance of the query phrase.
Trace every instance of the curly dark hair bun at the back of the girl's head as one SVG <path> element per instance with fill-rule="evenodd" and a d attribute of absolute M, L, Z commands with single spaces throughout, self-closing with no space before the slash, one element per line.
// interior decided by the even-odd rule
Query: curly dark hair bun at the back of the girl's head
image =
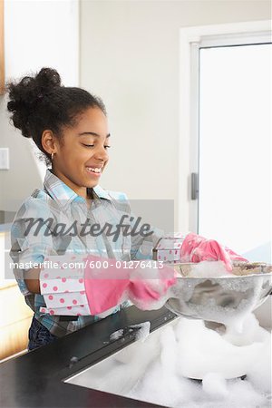
<path fill-rule="evenodd" d="M 19 83 L 8 83 L 8 112 L 12 112 L 15 128 L 26 138 L 31 137 L 29 118 L 35 112 L 37 102 L 44 95 L 61 86 L 61 77 L 53 68 L 42 68 L 34 76 L 24 76 Z"/>

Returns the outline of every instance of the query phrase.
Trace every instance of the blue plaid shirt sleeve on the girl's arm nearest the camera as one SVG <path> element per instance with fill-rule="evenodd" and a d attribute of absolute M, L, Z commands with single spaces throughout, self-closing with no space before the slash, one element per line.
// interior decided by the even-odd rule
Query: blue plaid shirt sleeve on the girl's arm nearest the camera
<path fill-rule="evenodd" d="M 24 282 L 24 274 L 34 264 L 44 262 L 47 255 L 58 255 L 53 248 L 53 212 L 45 199 L 29 198 L 15 215 L 11 227 L 13 274 L 24 296 L 30 295 Z"/>

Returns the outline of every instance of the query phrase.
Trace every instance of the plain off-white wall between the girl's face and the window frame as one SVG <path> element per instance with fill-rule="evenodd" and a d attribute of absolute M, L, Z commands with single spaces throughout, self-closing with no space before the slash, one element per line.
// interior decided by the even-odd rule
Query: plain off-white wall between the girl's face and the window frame
<path fill-rule="evenodd" d="M 177 228 L 180 28 L 270 15 L 260 0 L 81 1 L 80 83 L 102 97 L 111 123 L 102 187 L 175 199 Z"/>

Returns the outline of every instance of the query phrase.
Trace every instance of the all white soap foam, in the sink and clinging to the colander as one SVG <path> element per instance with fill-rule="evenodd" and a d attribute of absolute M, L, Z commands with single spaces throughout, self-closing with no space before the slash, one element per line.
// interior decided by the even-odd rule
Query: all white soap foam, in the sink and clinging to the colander
<path fill-rule="evenodd" d="M 210 408 L 270 406 L 271 335 L 250 313 L 257 304 L 262 278 L 257 277 L 252 287 L 247 277 L 235 277 L 226 271 L 222 262 L 201 262 L 188 277 L 210 278 L 211 281 L 224 277 L 220 281 L 223 290 L 242 294 L 248 291 L 250 296 L 242 299 L 233 310 L 208 299 L 205 309 L 209 320 L 226 325 L 225 332 L 222 328 L 218 332 L 210 330 L 203 320 L 183 317 L 174 329 L 166 327 L 157 339 L 159 355 L 150 360 L 146 374 L 127 396 L 170 407 L 197 407 L 199 404 Z M 160 301 L 153 303 L 152 308 L 159 308 L 171 296 L 190 299 L 199 280 L 182 281 L 180 278 L 179 281 L 180 287 L 171 287 Z M 141 308 L 146 306 L 143 303 Z M 203 305 L 194 308 L 195 315 L 201 316 Z M 144 360 L 146 364 L 149 355 L 144 354 L 143 358 L 137 355 L 139 362 Z M 236 378 L 244 374 L 247 374 L 246 380 Z M 188 377 L 201 378 L 202 384 Z"/>

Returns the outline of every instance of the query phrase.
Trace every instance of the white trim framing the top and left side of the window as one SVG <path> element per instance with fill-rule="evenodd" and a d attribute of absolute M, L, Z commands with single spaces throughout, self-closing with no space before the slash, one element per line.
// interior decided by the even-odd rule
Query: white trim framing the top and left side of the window
<path fill-rule="evenodd" d="M 220 41 L 220 44 L 238 44 L 238 37 L 244 41 L 253 37 L 267 38 L 271 35 L 271 20 L 244 22 L 235 24 L 200 25 L 180 29 L 180 139 L 179 139 L 179 173 L 178 173 L 178 230 L 197 232 L 196 211 L 198 200 L 190 200 L 190 173 L 198 172 L 198 160 L 192 159 L 198 142 L 197 107 L 198 101 L 198 67 L 191 65 L 191 45 L 209 46 Z M 219 36 L 221 38 L 219 39 Z M 270 37 L 271 38 L 271 37 Z M 212 43 L 211 43 L 212 42 Z M 194 47 L 193 47 L 194 48 Z M 198 120 L 197 120 L 198 121 Z"/>

